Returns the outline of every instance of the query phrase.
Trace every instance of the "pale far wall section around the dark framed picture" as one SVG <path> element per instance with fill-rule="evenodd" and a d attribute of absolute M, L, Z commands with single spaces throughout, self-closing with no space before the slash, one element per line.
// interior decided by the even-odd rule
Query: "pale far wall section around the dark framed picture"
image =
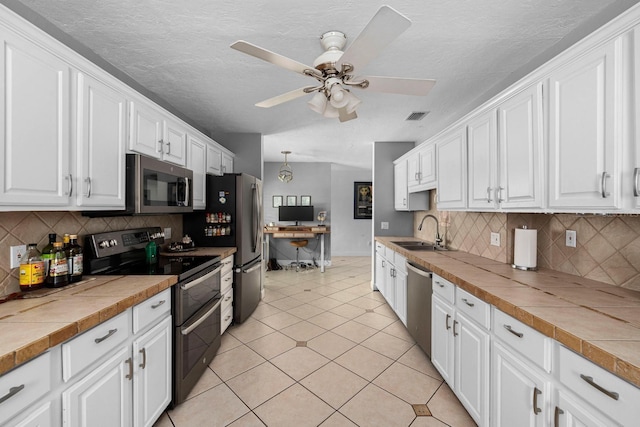
<path fill-rule="evenodd" d="M 369 256 L 372 245 L 370 219 L 353 219 L 353 183 L 372 181 L 371 170 L 331 167 L 331 250 L 334 256 Z"/>

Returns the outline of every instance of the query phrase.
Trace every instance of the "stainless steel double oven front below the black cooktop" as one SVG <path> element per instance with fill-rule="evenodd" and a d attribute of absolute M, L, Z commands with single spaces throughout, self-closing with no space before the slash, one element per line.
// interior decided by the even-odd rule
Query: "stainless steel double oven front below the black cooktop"
<path fill-rule="evenodd" d="M 184 402 L 220 348 L 220 263 L 173 287 L 172 406 Z"/>

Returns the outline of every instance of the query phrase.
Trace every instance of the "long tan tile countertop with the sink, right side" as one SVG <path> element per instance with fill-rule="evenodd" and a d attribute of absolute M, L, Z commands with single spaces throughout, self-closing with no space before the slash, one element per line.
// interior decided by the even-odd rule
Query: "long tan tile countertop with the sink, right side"
<path fill-rule="evenodd" d="M 640 292 L 554 270 L 522 271 L 461 251 L 376 241 L 640 387 Z"/>

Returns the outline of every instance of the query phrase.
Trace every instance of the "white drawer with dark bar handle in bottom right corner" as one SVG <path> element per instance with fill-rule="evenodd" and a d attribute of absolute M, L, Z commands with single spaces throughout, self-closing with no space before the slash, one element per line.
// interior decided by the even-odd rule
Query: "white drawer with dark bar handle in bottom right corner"
<path fill-rule="evenodd" d="M 575 395 L 625 426 L 638 425 L 640 389 L 616 377 L 561 344 L 558 349 L 560 383 Z"/>

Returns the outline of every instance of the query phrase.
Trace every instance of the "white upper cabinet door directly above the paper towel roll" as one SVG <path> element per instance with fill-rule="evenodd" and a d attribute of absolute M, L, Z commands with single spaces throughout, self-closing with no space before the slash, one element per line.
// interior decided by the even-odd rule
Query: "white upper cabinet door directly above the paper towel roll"
<path fill-rule="evenodd" d="M 500 207 L 542 207 L 542 129 L 542 83 L 498 106 L 499 182 L 495 198 Z"/>

